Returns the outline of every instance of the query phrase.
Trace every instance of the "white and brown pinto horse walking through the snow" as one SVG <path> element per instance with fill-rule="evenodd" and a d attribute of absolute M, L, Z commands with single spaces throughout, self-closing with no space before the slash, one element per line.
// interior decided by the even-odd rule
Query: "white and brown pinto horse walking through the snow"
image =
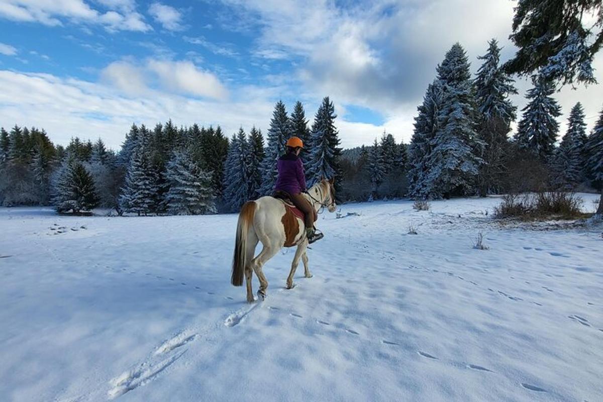
<path fill-rule="evenodd" d="M 317 212 L 324 207 L 329 212 L 336 210 L 333 179 L 319 181 L 310 187 L 304 196 Z M 262 242 L 262 251 L 253 257 L 258 242 Z M 234 286 L 242 286 L 243 274 L 245 274 L 247 302 L 253 303 L 255 300 L 251 289 L 251 277 L 255 272 L 260 281 L 260 288 L 257 291 L 258 300 L 264 300 L 267 296 L 268 281 L 262 272 L 262 267 L 281 248 L 294 246 L 297 246 L 297 250 L 291 263 L 291 272 L 287 277 L 287 289 L 294 287 L 293 275 L 300 258 L 303 260 L 305 277 L 312 277 L 308 269 L 308 254 L 306 254 L 308 238 L 303 219 L 298 218 L 282 200 L 272 196 L 247 201 L 241 208 L 236 226 L 230 283 Z"/>

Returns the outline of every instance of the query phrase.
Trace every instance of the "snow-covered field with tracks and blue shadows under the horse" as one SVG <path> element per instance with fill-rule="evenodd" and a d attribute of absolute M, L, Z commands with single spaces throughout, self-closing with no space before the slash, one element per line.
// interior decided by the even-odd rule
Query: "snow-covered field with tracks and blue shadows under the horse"
<path fill-rule="evenodd" d="M 501 227 L 497 203 L 325 212 L 314 277 L 283 289 L 283 251 L 251 305 L 236 215 L 0 209 L 1 400 L 603 401 L 601 228 Z"/>

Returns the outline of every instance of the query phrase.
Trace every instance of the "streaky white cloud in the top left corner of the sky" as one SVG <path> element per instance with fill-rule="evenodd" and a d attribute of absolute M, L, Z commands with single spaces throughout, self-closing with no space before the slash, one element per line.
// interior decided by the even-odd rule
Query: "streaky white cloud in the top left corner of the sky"
<path fill-rule="evenodd" d="M 127 0 L 101 0 L 101 4 L 115 10 L 101 13 L 83 0 L 3 0 L 0 17 L 44 25 L 63 25 L 64 20 L 75 23 L 101 24 L 109 31 L 150 31 L 144 17 L 134 11 L 135 4 Z"/>

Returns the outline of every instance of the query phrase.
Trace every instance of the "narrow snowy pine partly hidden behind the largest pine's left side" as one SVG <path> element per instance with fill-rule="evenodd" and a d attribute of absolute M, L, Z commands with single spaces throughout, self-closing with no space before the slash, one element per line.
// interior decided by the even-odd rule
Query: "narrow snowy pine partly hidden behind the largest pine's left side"
<path fill-rule="evenodd" d="M 432 151 L 435 133 L 440 128 L 440 109 L 443 102 L 442 84 L 434 80 L 429 84 L 423 97 L 423 103 L 417 107 L 414 132 L 408 145 L 408 195 L 414 199 L 426 199 L 434 196 L 433 184 L 427 183 L 428 160 Z"/>

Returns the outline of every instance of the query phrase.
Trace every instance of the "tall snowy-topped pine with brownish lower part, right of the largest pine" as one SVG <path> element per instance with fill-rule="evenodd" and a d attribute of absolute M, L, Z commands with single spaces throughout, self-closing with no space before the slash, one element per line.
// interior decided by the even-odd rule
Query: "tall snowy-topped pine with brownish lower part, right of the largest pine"
<path fill-rule="evenodd" d="M 480 195 L 485 196 L 502 189 L 507 134 L 511 130 L 511 122 L 516 119 L 517 110 L 509 95 L 516 94 L 517 89 L 513 86 L 514 81 L 499 66 L 500 48 L 496 39 L 488 42 L 488 51 L 478 59 L 484 60 L 473 81 L 479 111 L 478 136 L 484 142 L 480 154 L 484 164 L 479 172 L 478 186 Z"/>

